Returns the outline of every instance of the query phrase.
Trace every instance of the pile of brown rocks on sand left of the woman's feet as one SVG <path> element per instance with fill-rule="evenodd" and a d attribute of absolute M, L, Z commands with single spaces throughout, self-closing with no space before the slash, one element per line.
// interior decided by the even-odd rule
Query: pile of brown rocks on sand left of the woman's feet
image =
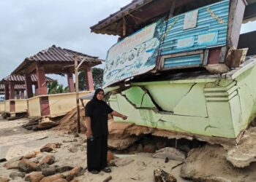
<path fill-rule="evenodd" d="M 61 143 L 48 143 L 43 146 L 40 151 L 50 152 L 59 148 Z M 86 169 L 83 167 L 58 166 L 54 165 L 56 157 L 48 154 L 45 157 L 39 156 L 39 151 L 26 154 L 23 157 L 16 157 L 8 160 L 4 167 L 7 170 L 15 170 L 10 173 L 10 178 L 23 178 L 24 181 L 31 182 L 65 182 L 73 181 L 75 177 L 83 175 Z M 2 178 L 0 181 L 10 181 L 10 179 Z"/>

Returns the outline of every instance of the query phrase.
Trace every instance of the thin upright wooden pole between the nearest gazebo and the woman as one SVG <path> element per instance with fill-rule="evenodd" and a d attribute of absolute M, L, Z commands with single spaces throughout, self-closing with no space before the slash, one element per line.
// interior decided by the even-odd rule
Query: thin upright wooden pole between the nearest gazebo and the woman
<path fill-rule="evenodd" d="M 77 132 L 80 133 L 80 108 L 79 108 L 79 90 L 78 90 L 78 56 L 74 55 L 75 59 L 75 100 L 77 103 L 77 122 L 78 122 L 78 129 Z"/>

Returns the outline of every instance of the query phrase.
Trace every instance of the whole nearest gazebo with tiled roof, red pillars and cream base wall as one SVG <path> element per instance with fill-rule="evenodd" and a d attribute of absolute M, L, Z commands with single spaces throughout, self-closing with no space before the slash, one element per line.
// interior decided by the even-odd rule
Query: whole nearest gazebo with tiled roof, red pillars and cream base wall
<path fill-rule="evenodd" d="M 102 63 L 98 57 L 53 45 L 47 50 L 26 58 L 18 68 L 12 71 L 12 74 L 25 77 L 29 116 L 59 116 L 75 108 L 75 88 L 72 76 L 75 71 L 75 59 L 78 60 L 80 70 L 86 74 L 87 92 L 80 92 L 80 96 L 83 96 L 94 90 L 91 68 Z M 31 74 L 36 74 L 38 78 L 37 96 L 35 97 L 31 94 Z M 67 74 L 69 93 L 48 95 L 45 74 Z"/>

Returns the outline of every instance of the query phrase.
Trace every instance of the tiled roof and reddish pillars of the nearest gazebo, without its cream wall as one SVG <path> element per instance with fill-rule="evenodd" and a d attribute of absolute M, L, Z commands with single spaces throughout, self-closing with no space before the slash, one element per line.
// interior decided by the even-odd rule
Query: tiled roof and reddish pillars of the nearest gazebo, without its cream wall
<path fill-rule="evenodd" d="M 74 92 L 75 88 L 72 73 L 74 72 L 73 65 L 75 61 L 72 57 L 75 55 L 78 56 L 78 62 L 83 60 L 83 58 L 86 59 L 80 68 L 83 69 L 86 74 L 87 90 L 94 90 L 91 67 L 101 64 L 102 60 L 100 60 L 98 57 L 85 55 L 80 52 L 62 49 L 61 47 L 56 47 L 55 45 L 23 60 L 20 66 L 18 66 L 15 71 L 12 71 L 12 74 L 20 74 L 25 76 L 28 98 L 33 96 L 31 95 L 31 74 L 37 74 L 38 95 L 47 94 L 45 74 L 67 74 L 69 92 Z"/>

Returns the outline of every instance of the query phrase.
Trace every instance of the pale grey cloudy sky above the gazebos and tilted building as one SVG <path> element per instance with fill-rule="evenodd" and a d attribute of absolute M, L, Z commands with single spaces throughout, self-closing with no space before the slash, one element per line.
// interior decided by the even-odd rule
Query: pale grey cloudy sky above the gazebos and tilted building
<path fill-rule="evenodd" d="M 24 58 L 53 44 L 105 59 L 117 37 L 91 33 L 89 27 L 130 1 L 1 0 L 0 79 Z M 253 30 L 255 24 L 243 25 L 242 32 Z M 66 78 L 57 78 L 67 85 Z"/>

